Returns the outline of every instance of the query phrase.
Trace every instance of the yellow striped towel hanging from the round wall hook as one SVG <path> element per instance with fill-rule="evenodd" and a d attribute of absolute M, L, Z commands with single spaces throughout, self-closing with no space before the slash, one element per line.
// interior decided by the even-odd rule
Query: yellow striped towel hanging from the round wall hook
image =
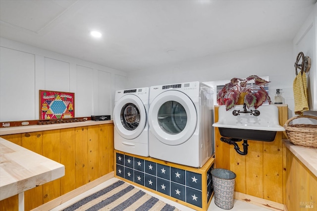
<path fill-rule="evenodd" d="M 307 80 L 306 73 L 297 74 L 294 83 L 293 83 L 293 91 L 294 91 L 294 102 L 295 102 L 295 114 L 303 115 L 304 111 L 309 110 L 308 106 L 308 93 L 307 93 Z"/>

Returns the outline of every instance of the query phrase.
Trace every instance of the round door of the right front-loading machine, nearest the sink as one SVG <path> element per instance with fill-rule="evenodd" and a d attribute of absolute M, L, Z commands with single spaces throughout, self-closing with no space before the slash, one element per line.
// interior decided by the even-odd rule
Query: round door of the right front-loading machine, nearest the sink
<path fill-rule="evenodd" d="M 149 125 L 155 137 L 162 143 L 182 144 L 193 135 L 196 129 L 195 105 L 181 91 L 162 92 L 150 105 Z"/>

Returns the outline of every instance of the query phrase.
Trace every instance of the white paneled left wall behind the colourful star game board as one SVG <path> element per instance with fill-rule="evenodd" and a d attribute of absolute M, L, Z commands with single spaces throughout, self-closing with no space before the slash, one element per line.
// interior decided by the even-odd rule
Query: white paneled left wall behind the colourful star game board
<path fill-rule="evenodd" d="M 0 122 L 39 119 L 39 90 L 75 93 L 75 117 L 111 115 L 126 73 L 0 38 Z"/>

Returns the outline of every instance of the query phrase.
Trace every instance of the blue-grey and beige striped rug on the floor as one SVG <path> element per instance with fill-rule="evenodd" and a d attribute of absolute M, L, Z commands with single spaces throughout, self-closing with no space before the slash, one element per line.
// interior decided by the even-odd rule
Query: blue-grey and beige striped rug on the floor
<path fill-rule="evenodd" d="M 142 190 L 117 181 L 64 211 L 179 211 Z"/>

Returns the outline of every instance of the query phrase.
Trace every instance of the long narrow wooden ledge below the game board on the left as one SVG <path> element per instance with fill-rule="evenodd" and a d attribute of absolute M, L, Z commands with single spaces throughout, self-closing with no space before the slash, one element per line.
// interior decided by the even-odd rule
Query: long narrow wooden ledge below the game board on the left
<path fill-rule="evenodd" d="M 16 134 L 16 133 L 23 133 L 23 132 L 36 132 L 36 131 L 62 129 L 62 128 L 70 128 L 70 127 L 93 126 L 93 125 L 102 125 L 102 124 L 110 124 L 110 123 L 113 123 L 113 121 L 112 120 L 106 120 L 106 121 L 89 120 L 85 122 L 60 123 L 60 124 L 52 124 L 52 125 L 1 127 L 0 135 Z"/>

